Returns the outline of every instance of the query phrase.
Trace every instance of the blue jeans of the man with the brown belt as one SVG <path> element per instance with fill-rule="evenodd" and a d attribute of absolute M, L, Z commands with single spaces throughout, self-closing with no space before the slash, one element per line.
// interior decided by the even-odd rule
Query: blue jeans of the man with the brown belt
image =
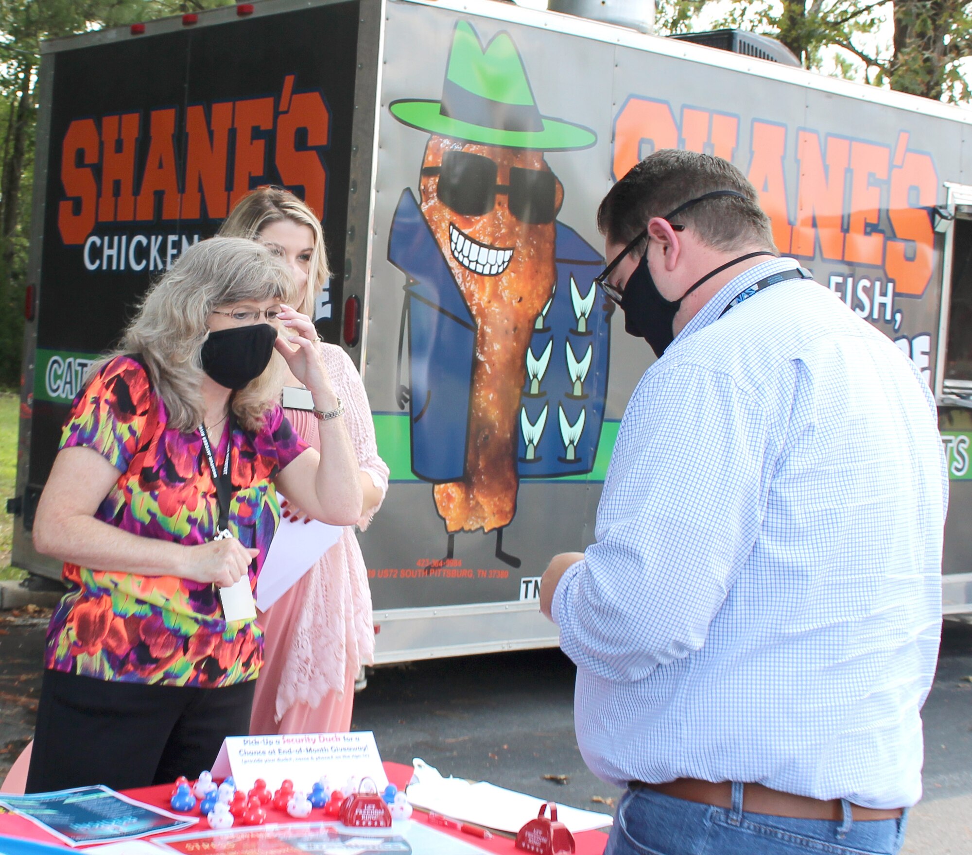
<path fill-rule="evenodd" d="M 900 819 L 854 822 L 789 819 L 747 813 L 743 785 L 733 785 L 733 807 L 713 807 L 640 787 L 618 804 L 605 855 L 894 855 L 905 838 Z"/>

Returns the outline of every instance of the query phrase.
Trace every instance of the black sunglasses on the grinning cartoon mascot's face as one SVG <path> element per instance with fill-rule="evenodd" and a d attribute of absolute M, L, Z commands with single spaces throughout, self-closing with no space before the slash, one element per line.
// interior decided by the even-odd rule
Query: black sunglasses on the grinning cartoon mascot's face
<path fill-rule="evenodd" d="M 505 194 L 509 212 L 521 222 L 553 222 L 557 214 L 557 179 L 540 169 L 509 167 L 509 184 L 497 184 L 498 165 L 482 154 L 442 154 L 441 166 L 426 166 L 423 175 L 437 175 L 436 193 L 442 204 L 464 217 L 489 214 L 497 193 Z"/>

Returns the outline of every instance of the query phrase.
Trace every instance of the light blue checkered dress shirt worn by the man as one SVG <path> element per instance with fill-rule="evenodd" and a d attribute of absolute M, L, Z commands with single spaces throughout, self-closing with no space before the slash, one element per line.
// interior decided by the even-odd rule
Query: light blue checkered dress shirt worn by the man
<path fill-rule="evenodd" d="M 644 373 L 553 600 L 606 781 L 920 799 L 948 479 L 914 364 L 826 288 L 719 291 Z"/>

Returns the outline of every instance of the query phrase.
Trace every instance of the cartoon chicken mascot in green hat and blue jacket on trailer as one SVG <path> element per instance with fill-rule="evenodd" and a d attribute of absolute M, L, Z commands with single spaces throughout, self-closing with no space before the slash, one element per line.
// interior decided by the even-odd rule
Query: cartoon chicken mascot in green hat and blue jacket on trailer
<path fill-rule="evenodd" d="M 485 48 L 453 34 L 439 100 L 399 100 L 400 122 L 431 133 L 421 202 L 405 189 L 389 260 L 407 279 L 399 408 L 412 471 L 434 483 L 451 558 L 458 531 L 497 531 L 521 478 L 589 472 L 608 382 L 601 256 L 557 222 L 564 188 L 546 152 L 593 146 L 593 131 L 541 116 L 512 39 Z M 407 336 L 409 381 L 400 379 Z"/>

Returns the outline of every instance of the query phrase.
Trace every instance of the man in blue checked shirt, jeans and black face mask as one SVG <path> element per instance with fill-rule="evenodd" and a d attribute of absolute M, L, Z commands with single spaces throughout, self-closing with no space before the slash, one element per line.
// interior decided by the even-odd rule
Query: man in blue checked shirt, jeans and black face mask
<path fill-rule="evenodd" d="M 948 480 L 915 365 L 792 258 L 725 160 L 660 151 L 598 212 L 658 355 L 596 542 L 541 609 L 577 665 L 611 855 L 894 853 L 921 795 Z"/>

